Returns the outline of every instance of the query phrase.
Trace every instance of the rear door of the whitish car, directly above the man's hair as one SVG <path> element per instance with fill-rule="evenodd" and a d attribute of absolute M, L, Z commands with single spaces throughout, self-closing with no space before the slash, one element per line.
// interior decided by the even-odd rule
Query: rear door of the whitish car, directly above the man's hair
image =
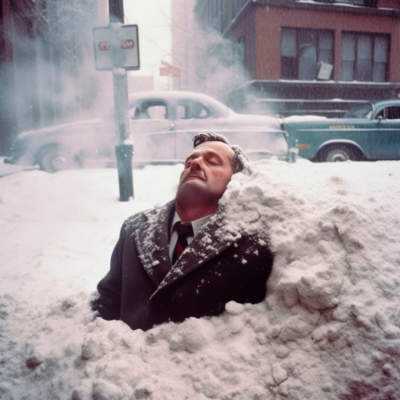
<path fill-rule="evenodd" d="M 179 99 L 175 103 L 175 155 L 184 160 L 193 148 L 192 137 L 211 129 L 212 110 L 203 102 Z"/>

